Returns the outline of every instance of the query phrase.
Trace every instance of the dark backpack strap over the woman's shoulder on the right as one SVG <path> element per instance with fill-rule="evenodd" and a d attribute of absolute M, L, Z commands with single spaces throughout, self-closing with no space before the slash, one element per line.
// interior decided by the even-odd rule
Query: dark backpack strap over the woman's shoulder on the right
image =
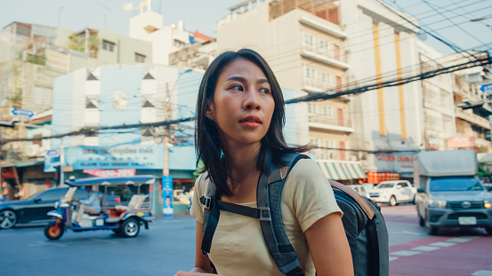
<path fill-rule="evenodd" d="M 280 203 L 288 173 L 294 164 L 303 158 L 309 157 L 303 154 L 287 154 L 285 161 L 289 165 L 274 168 L 268 176 L 262 174 L 256 191 L 258 208 L 270 210 L 271 219 L 260 221 L 264 241 L 269 248 L 270 256 L 278 266 L 278 270 L 288 276 L 303 275 L 303 272 L 299 257 L 295 254 L 284 229 Z"/>

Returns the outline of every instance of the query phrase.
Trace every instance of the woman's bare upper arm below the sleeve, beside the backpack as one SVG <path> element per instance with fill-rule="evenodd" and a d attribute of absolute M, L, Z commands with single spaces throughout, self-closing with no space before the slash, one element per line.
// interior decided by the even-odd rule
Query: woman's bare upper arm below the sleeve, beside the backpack
<path fill-rule="evenodd" d="M 339 213 L 320 218 L 304 232 L 319 276 L 353 275 L 351 248 Z"/>

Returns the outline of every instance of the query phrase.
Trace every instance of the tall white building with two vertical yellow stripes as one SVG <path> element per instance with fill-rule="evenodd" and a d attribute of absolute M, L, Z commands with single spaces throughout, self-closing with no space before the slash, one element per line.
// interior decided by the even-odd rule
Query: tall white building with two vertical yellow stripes
<path fill-rule="evenodd" d="M 375 0 L 341 4 L 350 89 L 420 73 L 416 20 Z M 376 184 L 412 177 L 412 156 L 425 142 L 421 84 L 363 92 L 352 98 L 351 110 L 355 129 L 351 143 L 367 151 L 360 153 L 367 181 Z"/>

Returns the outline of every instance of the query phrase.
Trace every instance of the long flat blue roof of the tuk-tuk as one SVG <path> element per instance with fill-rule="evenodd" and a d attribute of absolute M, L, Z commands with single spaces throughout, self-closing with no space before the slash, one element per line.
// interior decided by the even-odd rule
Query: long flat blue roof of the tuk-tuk
<path fill-rule="evenodd" d="M 151 175 L 141 175 L 134 177 L 85 177 L 78 179 L 65 180 L 71 186 L 85 185 L 142 185 L 154 184 L 156 177 Z"/>

